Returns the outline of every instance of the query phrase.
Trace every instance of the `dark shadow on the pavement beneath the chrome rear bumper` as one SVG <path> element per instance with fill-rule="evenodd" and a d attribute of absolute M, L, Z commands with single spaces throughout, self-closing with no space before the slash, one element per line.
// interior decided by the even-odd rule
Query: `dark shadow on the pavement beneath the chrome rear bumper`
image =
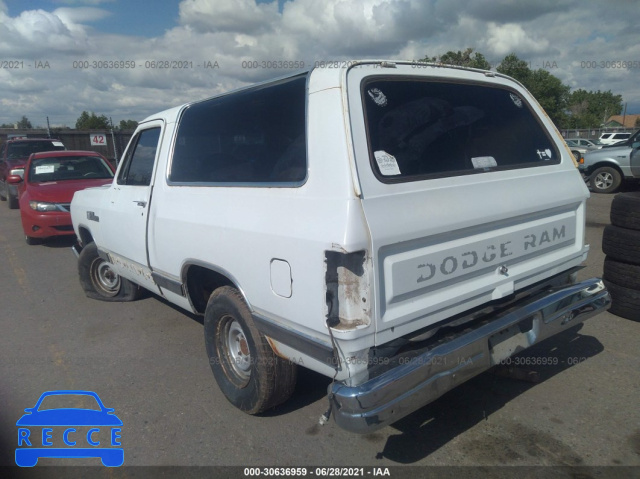
<path fill-rule="evenodd" d="M 522 366 L 538 373 L 537 383 L 554 377 L 566 369 L 588 361 L 604 350 L 592 336 L 579 334 L 582 325 L 560 333 L 515 356 L 518 364 L 541 362 L 551 365 Z M 529 360 L 529 361 L 527 361 Z M 486 420 L 505 404 L 537 383 L 499 376 L 494 368 L 467 381 L 428 406 L 419 409 L 391 426 L 400 434 L 389 436 L 377 458 L 400 464 L 411 464 L 440 449 L 458 435 Z M 365 436 L 367 440 L 383 440 L 380 433 Z"/>

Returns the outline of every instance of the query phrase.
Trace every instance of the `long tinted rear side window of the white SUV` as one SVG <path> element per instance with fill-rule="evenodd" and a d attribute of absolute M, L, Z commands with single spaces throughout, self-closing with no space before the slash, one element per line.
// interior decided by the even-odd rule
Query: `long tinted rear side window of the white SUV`
<path fill-rule="evenodd" d="M 300 184 L 305 113 L 306 76 L 196 103 L 180 120 L 169 181 Z"/>

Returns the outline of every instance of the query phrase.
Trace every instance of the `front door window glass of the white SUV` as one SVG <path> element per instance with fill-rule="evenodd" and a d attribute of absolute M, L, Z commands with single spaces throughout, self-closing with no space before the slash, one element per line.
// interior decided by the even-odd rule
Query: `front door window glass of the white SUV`
<path fill-rule="evenodd" d="M 149 128 L 135 138 L 118 174 L 119 185 L 148 186 L 151 184 L 159 140 L 160 128 Z"/>

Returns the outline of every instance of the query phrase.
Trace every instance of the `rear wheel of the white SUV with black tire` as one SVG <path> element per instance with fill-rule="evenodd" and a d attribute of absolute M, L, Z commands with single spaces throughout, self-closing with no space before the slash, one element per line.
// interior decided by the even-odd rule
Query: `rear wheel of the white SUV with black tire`
<path fill-rule="evenodd" d="M 296 365 L 273 352 L 237 289 L 223 286 L 211 294 L 204 336 L 213 376 L 231 404 L 258 414 L 289 399 Z"/>

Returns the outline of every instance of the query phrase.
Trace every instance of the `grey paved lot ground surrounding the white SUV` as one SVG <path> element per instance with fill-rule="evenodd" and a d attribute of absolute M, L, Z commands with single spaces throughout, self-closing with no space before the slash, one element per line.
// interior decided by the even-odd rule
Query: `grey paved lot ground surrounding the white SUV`
<path fill-rule="evenodd" d="M 602 274 L 612 198 L 588 202 L 582 277 Z M 522 356 L 551 363 L 534 368 L 538 383 L 488 372 L 357 436 L 318 425 L 329 381 L 308 371 L 286 405 L 237 411 L 213 380 L 199 318 L 153 296 L 89 300 L 70 241 L 27 246 L 19 212 L 4 203 L 0 225 L 0 465 L 15 464 L 24 408 L 44 391 L 82 389 L 122 419 L 126 466 L 640 466 L 640 323 L 602 314 Z M 72 460 L 39 465 L 60 461 Z"/>

